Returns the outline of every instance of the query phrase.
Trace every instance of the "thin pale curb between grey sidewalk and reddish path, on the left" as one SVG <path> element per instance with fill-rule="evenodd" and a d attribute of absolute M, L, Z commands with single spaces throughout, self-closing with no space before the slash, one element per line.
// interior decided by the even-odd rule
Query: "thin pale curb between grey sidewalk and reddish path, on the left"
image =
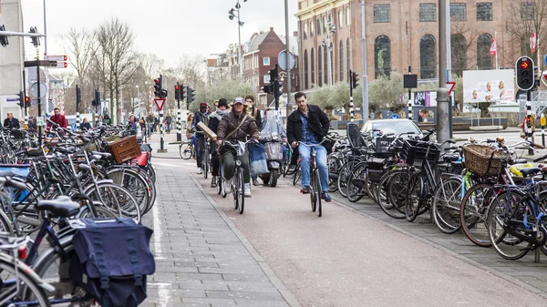
<path fill-rule="evenodd" d="M 284 301 L 289 304 L 291 307 L 302 307 L 300 302 L 296 300 L 293 293 L 291 293 L 287 288 L 285 288 L 284 283 L 275 275 L 274 271 L 270 268 L 268 263 L 263 260 L 262 256 L 256 251 L 253 247 L 253 244 L 245 236 L 243 233 L 237 229 L 235 224 L 228 218 L 226 213 L 222 211 L 219 206 L 217 205 L 216 201 L 212 199 L 212 197 L 207 193 L 205 189 L 201 186 L 201 183 L 192 175 L 189 174 L 190 178 L 194 181 L 198 189 L 201 190 L 201 193 L 205 196 L 207 200 L 209 200 L 212 204 L 212 207 L 214 207 L 214 210 L 216 210 L 219 215 L 221 216 L 222 220 L 226 222 L 228 227 L 233 231 L 233 233 L 237 236 L 239 240 L 242 241 L 243 246 L 247 251 L 251 253 L 251 256 L 253 256 L 253 259 L 258 263 L 258 265 L 263 270 L 264 274 L 266 274 L 266 277 L 272 282 L 274 287 L 277 289 L 277 291 L 281 294 L 281 296 L 284 298 Z"/>

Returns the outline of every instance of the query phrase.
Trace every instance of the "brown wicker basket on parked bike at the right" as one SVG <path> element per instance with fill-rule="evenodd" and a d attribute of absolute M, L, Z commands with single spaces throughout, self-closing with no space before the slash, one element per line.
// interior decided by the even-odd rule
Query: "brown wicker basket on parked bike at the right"
<path fill-rule="evenodd" d="M 507 159 L 507 153 L 488 145 L 468 144 L 463 147 L 465 167 L 480 176 L 497 176 L 501 160 Z"/>

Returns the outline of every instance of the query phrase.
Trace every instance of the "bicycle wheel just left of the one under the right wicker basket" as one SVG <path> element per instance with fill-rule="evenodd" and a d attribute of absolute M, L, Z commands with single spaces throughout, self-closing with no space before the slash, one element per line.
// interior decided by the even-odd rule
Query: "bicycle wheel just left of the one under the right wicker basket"
<path fill-rule="evenodd" d="M 462 178 L 443 179 L 433 192 L 431 215 L 433 222 L 443 233 L 455 233 L 461 228 L 461 184 Z"/>

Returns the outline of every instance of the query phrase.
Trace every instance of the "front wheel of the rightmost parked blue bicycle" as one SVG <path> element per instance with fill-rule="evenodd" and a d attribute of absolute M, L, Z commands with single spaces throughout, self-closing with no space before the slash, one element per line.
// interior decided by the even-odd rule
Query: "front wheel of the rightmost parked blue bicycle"
<path fill-rule="evenodd" d="M 487 225 L 492 247 L 501 258 L 510 261 L 521 259 L 532 249 L 532 243 L 514 238 L 508 232 L 524 232 L 521 222 L 524 216 L 534 217 L 524 197 L 517 191 L 503 191 L 492 200 L 488 209 Z"/>

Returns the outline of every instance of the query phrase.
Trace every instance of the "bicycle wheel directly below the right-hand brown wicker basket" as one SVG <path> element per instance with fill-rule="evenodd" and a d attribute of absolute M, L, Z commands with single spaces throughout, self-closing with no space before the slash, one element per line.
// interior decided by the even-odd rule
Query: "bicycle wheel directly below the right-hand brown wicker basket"
<path fill-rule="evenodd" d="M 461 229 L 471 242 L 480 247 L 492 245 L 485 220 L 490 202 L 495 196 L 492 184 L 480 183 L 468 189 L 461 200 Z"/>

